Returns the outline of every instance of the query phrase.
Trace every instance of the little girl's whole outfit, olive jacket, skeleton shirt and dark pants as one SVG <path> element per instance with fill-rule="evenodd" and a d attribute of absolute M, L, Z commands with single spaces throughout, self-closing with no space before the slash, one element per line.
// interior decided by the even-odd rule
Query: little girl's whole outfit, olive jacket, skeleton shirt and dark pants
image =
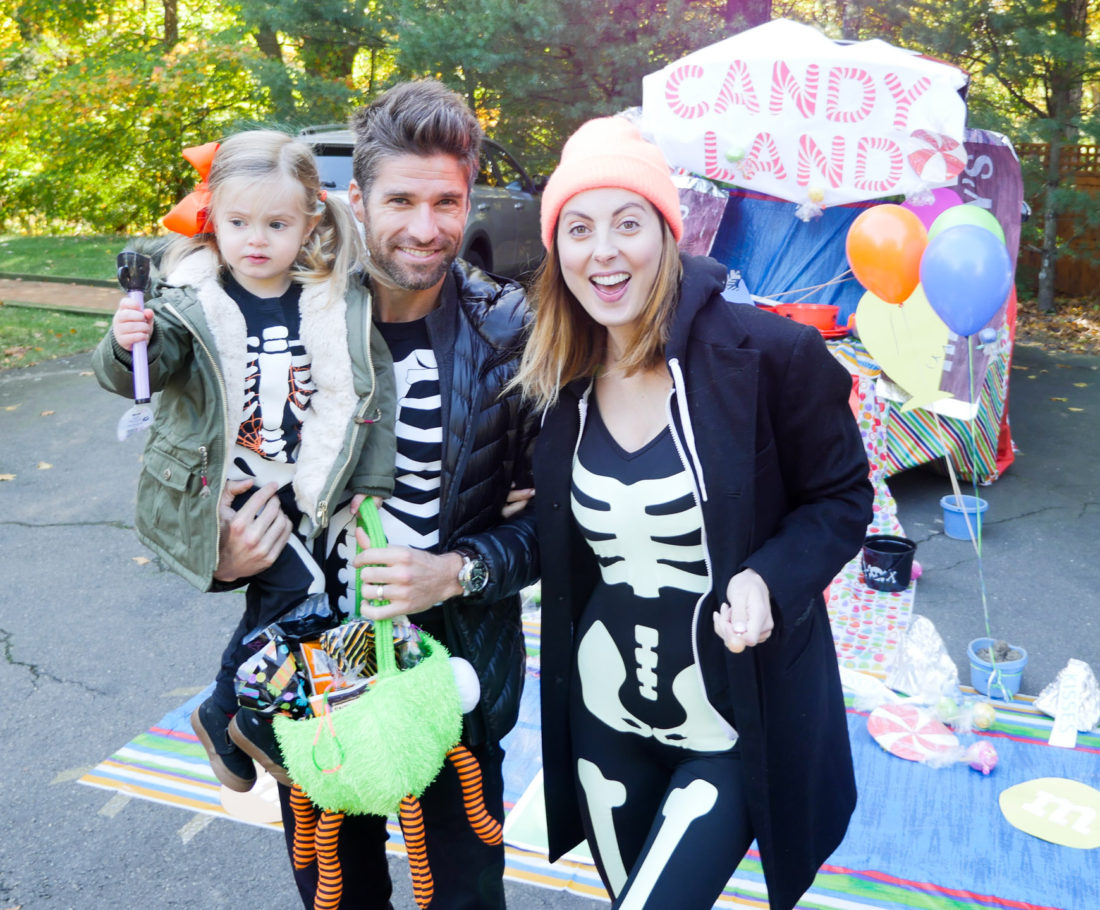
<path fill-rule="evenodd" d="M 227 480 L 254 478 L 234 507 L 268 481 L 294 533 L 248 583 L 245 610 L 222 655 L 213 699 L 237 710 L 242 639 L 326 589 L 317 533 L 344 491 L 393 491 L 394 381 L 370 298 L 349 282 L 250 294 L 199 250 L 155 288 L 150 380 L 160 392 L 138 485 L 139 538 L 193 584 L 212 584 L 218 501 Z M 101 384 L 130 395 L 130 354 L 111 332 L 94 358 Z"/>

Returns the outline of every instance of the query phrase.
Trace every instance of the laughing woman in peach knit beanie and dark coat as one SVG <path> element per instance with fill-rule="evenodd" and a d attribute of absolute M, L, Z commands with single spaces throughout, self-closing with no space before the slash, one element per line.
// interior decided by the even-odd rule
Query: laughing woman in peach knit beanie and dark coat
<path fill-rule="evenodd" d="M 679 199 L 622 118 L 542 198 L 517 379 L 544 409 L 542 741 L 551 859 L 587 838 L 615 907 L 710 908 L 754 838 L 795 904 L 856 801 L 822 592 L 872 491 L 818 332 L 678 255 Z"/>

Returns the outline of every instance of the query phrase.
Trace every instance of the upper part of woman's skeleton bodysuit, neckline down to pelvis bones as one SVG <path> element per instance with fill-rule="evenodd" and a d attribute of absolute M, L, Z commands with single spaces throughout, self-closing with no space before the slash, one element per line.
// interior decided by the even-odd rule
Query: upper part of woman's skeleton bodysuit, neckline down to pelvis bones
<path fill-rule="evenodd" d="M 585 709 L 669 746 L 730 748 L 736 734 L 707 703 L 694 660 L 692 616 L 710 579 L 702 512 L 671 430 L 627 452 L 590 396 L 571 500 L 601 571 L 578 634 Z"/>

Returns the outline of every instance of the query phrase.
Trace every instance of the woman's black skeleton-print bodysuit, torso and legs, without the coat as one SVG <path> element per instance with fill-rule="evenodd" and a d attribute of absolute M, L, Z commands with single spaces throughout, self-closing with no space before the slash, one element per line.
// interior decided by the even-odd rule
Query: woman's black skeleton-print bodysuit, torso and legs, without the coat
<path fill-rule="evenodd" d="M 590 395 L 571 500 L 601 570 L 570 711 L 588 843 L 615 907 L 708 908 L 751 836 L 737 735 L 695 665 L 692 617 L 711 581 L 671 430 L 627 452 Z M 701 855 L 713 857 L 710 876 Z"/>

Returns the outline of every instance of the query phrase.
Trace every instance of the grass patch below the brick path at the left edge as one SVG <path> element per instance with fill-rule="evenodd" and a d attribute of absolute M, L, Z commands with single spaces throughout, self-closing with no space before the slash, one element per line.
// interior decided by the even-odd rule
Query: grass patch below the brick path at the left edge
<path fill-rule="evenodd" d="M 0 304 L 0 370 L 89 351 L 110 326 L 102 314 Z"/>

